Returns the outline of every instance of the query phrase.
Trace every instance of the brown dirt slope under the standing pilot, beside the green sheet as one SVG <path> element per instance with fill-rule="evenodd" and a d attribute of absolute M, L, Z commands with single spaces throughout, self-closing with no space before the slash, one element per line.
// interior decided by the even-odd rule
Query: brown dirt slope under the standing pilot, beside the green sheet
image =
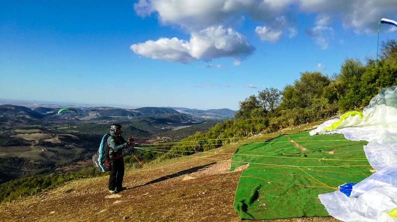
<path fill-rule="evenodd" d="M 0 206 L 2 221 L 241 221 L 233 200 L 241 170 L 230 172 L 239 144 L 126 169 L 128 189 L 109 195 L 108 176 L 69 182 Z M 339 221 L 301 217 L 266 221 Z"/>

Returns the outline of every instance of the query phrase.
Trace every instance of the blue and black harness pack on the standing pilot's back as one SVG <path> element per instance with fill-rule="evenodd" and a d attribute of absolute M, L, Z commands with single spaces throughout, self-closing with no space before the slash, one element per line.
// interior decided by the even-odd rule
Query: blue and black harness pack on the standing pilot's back
<path fill-rule="evenodd" d="M 95 168 L 100 172 L 106 172 L 111 170 L 109 149 L 110 146 L 107 143 L 107 139 L 110 133 L 103 135 L 101 144 L 99 145 L 98 151 L 92 156 L 92 162 Z"/>

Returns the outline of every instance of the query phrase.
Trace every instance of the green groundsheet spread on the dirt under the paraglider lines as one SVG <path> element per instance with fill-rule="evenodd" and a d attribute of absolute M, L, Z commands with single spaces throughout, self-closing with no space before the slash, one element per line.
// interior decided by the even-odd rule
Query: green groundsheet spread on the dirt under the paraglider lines
<path fill-rule="evenodd" d="M 342 134 L 310 136 L 305 131 L 244 144 L 232 156 L 231 171 L 249 163 L 234 207 L 241 219 L 329 216 L 318 194 L 372 173 L 363 151 L 366 143 Z"/>

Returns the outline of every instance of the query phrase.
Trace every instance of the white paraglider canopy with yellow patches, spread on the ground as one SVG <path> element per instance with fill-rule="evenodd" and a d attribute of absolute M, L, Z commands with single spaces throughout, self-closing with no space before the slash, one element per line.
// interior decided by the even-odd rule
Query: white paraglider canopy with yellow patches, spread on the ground
<path fill-rule="evenodd" d="M 362 113 L 347 112 L 310 131 L 316 133 L 368 141 L 365 155 L 376 169 L 352 186 L 350 196 L 339 190 L 320 194 L 328 213 L 343 221 L 397 221 L 397 86 L 381 89 Z"/>

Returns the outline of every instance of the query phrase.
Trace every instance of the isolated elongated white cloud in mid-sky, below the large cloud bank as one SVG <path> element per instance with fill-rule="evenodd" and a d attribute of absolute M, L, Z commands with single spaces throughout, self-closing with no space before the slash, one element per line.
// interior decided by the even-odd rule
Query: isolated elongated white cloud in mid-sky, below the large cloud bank
<path fill-rule="evenodd" d="M 212 26 L 191 33 L 189 41 L 160 38 L 133 44 L 130 48 L 145 57 L 188 63 L 194 59 L 210 61 L 214 58 L 232 57 L 244 60 L 255 48 L 232 28 Z"/>

